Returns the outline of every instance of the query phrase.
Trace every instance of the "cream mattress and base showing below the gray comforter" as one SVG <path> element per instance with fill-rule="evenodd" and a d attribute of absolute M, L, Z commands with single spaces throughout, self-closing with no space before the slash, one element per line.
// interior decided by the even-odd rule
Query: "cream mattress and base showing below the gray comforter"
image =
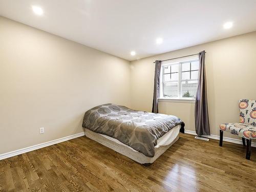
<path fill-rule="evenodd" d="M 144 154 L 134 150 L 132 147 L 125 145 L 119 140 L 109 137 L 107 135 L 95 133 L 85 128 L 85 135 L 98 143 L 105 145 L 112 150 L 129 157 L 130 159 L 141 163 L 153 163 L 159 156 L 161 156 L 170 146 L 172 146 L 179 139 L 180 125 L 175 126 L 172 130 L 168 131 L 165 135 L 157 140 L 155 146 L 154 157 L 147 157 Z"/>

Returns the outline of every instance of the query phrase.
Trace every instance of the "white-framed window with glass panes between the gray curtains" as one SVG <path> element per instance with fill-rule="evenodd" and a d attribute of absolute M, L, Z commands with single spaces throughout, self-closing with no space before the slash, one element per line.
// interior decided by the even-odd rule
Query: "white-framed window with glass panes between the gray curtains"
<path fill-rule="evenodd" d="M 195 99 L 198 70 L 198 57 L 162 64 L 161 98 Z"/>

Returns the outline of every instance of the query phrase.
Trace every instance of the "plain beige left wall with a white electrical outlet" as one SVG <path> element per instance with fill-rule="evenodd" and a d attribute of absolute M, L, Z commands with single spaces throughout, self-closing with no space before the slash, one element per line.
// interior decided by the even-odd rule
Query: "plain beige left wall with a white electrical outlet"
<path fill-rule="evenodd" d="M 130 106 L 129 61 L 0 17 L 0 154 L 81 133 L 110 102 Z"/>

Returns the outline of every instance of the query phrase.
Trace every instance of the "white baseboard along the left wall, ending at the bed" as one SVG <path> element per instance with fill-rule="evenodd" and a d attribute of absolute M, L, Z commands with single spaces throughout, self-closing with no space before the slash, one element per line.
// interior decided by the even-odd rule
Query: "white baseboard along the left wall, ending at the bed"
<path fill-rule="evenodd" d="M 6 158 L 9 158 L 9 157 L 13 157 L 13 156 L 16 156 L 16 155 L 24 154 L 24 153 L 27 153 L 27 152 L 31 152 L 31 151 L 34 151 L 34 150 L 38 150 L 39 148 L 43 148 L 43 147 L 46 147 L 46 146 L 50 146 L 50 145 L 53 145 L 53 144 L 56 144 L 56 143 L 60 143 L 60 142 L 67 141 L 67 140 L 74 139 L 74 138 L 81 137 L 81 136 L 84 136 L 84 132 L 77 133 L 75 135 L 70 135 L 70 136 L 67 136 L 67 137 L 62 137 L 62 138 L 55 139 L 55 140 L 52 140 L 52 141 L 47 141 L 45 143 L 40 143 L 40 144 L 29 146 L 29 147 L 26 147 L 26 148 L 21 148 L 20 150 L 15 150 L 15 151 L 12 151 L 12 152 L 0 154 L 0 160 L 6 159 Z"/>

